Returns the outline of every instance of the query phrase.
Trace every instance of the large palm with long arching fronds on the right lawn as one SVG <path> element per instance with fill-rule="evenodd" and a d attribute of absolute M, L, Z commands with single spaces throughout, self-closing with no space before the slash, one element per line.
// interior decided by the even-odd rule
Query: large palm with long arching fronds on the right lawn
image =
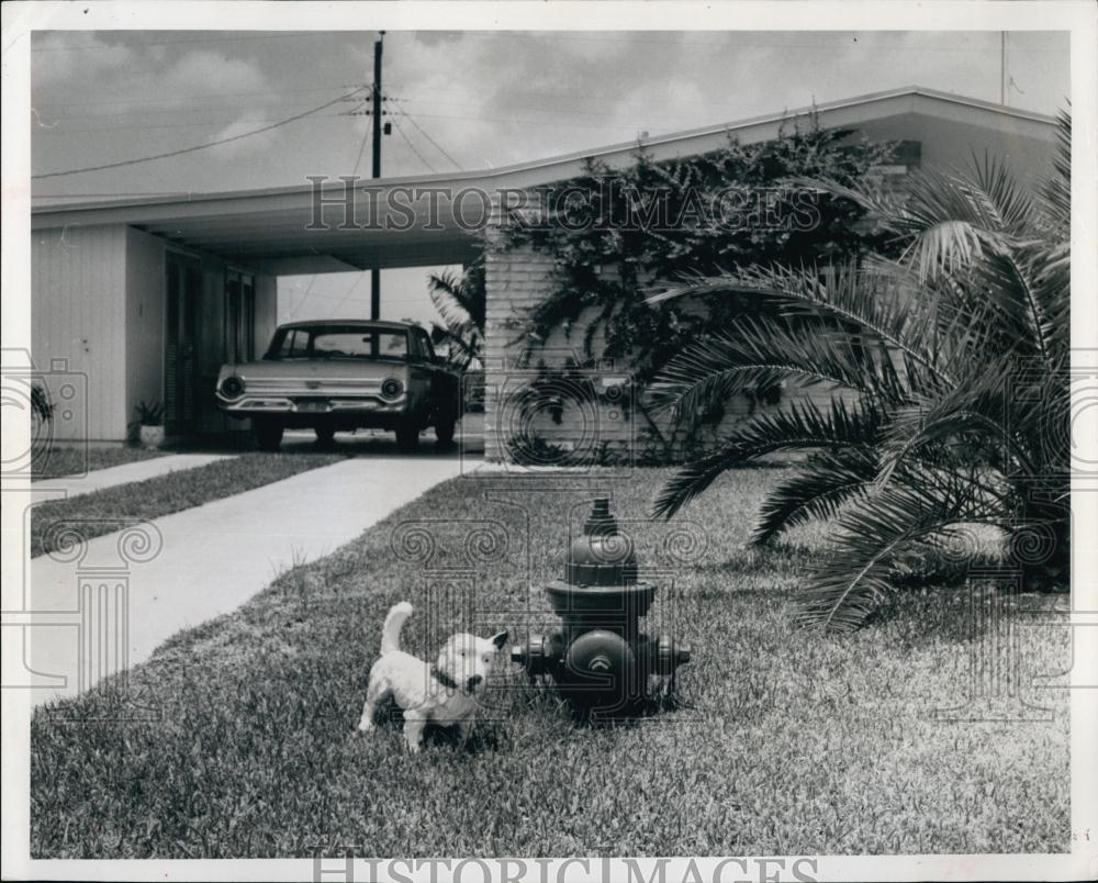
<path fill-rule="evenodd" d="M 900 257 L 752 267 L 656 295 L 749 292 L 781 308 L 669 364 L 653 390 L 677 414 L 778 379 L 840 393 L 744 421 L 664 484 L 656 514 L 672 516 L 725 470 L 800 450 L 807 459 L 764 501 L 752 539 L 833 525 L 805 622 L 861 625 L 912 559 L 955 552 L 986 526 L 1028 585 L 1066 584 L 1069 157 L 1062 114 L 1037 193 L 986 157 L 917 174 L 893 198 L 816 182 L 864 206 Z"/>

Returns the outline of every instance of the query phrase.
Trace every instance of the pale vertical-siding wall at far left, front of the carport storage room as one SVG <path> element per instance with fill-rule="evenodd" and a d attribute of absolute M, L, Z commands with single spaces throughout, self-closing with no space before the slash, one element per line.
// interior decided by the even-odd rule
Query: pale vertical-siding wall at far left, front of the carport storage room
<path fill-rule="evenodd" d="M 59 439 L 126 434 L 126 228 L 37 230 L 31 247 L 31 348 L 40 370 L 65 359 L 87 378 L 87 399 L 58 402 Z M 47 385 L 57 400 L 55 382 Z M 80 389 L 83 383 L 75 384 Z"/>

